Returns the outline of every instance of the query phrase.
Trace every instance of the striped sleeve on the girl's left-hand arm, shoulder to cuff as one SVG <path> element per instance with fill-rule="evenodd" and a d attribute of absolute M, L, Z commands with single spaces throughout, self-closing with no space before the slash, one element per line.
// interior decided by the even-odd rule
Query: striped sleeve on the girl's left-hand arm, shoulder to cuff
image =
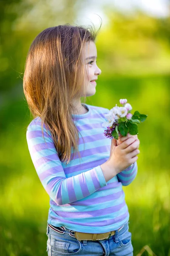
<path fill-rule="evenodd" d="M 50 131 L 33 120 L 27 128 L 26 140 L 31 160 L 51 199 L 58 205 L 69 204 L 91 195 L 102 186 L 106 186 L 100 166 L 66 178 L 62 162 L 54 146 Z"/>

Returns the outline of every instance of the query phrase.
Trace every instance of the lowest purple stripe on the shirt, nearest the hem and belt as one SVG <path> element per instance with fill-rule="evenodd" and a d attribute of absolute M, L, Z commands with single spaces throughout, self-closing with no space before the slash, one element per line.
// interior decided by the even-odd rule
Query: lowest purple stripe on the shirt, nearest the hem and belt
<path fill-rule="evenodd" d="M 52 209 L 52 211 L 54 212 L 53 209 Z M 54 214 L 56 215 L 56 212 L 54 212 Z M 109 225 L 112 225 L 112 224 L 117 224 L 119 222 L 122 222 L 123 220 L 125 220 L 127 218 L 128 215 L 129 215 L 129 212 L 127 210 L 124 214 L 122 214 L 122 215 L 120 215 L 120 216 L 118 216 L 116 218 L 111 218 L 110 220 L 105 220 L 105 221 L 97 221 L 95 223 L 95 226 L 94 226 L 94 222 L 80 223 L 80 222 L 75 222 L 75 221 L 68 221 L 66 219 L 64 220 L 64 222 L 72 224 L 72 225 L 76 224 L 76 225 L 85 226 L 85 227 L 86 226 L 87 227 L 90 226 L 90 227 L 93 227 L 95 229 L 95 227 L 105 227 L 105 226 L 109 226 Z M 89 218 L 91 218 L 91 216 Z M 53 216 L 53 220 L 55 220 L 56 222 L 61 222 L 61 221 L 63 222 L 63 219 L 57 218 L 55 216 Z M 78 232 L 82 232 L 82 231 L 78 231 Z"/>

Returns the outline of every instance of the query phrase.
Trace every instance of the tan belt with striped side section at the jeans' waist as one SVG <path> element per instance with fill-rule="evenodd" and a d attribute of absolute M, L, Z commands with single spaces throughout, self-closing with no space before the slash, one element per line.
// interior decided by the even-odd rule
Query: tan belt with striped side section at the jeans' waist
<path fill-rule="evenodd" d="M 52 229 L 56 230 L 57 233 L 64 233 L 64 230 L 66 230 L 65 227 L 54 227 L 51 224 L 48 224 L 48 225 Z M 122 229 L 122 227 L 118 229 L 118 232 Z M 68 230 L 68 231 L 71 232 L 71 236 L 75 237 L 79 241 L 81 241 L 81 240 L 91 240 L 91 241 L 106 240 L 106 239 L 109 239 L 111 236 L 115 235 L 115 231 L 110 231 L 107 233 L 100 233 L 100 234 L 82 233 L 82 232 L 77 232 L 77 231 L 73 231 L 73 230 Z"/>

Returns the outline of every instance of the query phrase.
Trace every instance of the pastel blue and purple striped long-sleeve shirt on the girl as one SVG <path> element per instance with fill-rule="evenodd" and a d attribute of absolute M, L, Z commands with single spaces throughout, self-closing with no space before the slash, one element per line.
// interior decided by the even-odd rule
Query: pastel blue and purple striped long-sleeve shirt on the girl
<path fill-rule="evenodd" d="M 79 131 L 81 158 L 76 154 L 67 166 L 59 159 L 51 132 L 45 126 L 45 140 L 42 137 L 40 117 L 28 125 L 26 139 L 37 175 L 50 197 L 48 223 L 78 232 L 105 233 L 129 220 L 122 186 L 136 177 L 137 163 L 105 181 L 100 165 L 110 156 L 111 140 L 105 137 L 102 123 L 109 109 L 87 104 L 85 107 L 87 113 L 72 115 Z"/>

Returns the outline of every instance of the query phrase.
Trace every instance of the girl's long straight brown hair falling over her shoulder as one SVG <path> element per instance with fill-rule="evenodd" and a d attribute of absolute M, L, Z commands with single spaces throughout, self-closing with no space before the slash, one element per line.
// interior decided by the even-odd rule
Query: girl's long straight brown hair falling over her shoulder
<path fill-rule="evenodd" d="M 79 142 L 72 101 L 86 99 L 82 49 L 95 41 L 98 31 L 69 23 L 47 28 L 34 39 L 26 59 L 23 90 L 28 108 L 34 118 L 40 116 L 42 134 L 43 124 L 48 127 L 60 160 L 67 163 L 71 147 L 78 151 Z"/>

